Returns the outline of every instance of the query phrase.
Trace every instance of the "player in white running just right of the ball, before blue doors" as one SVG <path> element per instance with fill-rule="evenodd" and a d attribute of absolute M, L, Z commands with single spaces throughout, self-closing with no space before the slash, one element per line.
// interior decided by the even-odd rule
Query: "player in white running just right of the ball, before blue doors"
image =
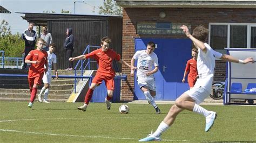
<path fill-rule="evenodd" d="M 156 45 L 154 42 L 147 43 L 147 49 L 142 51 L 137 51 L 131 60 L 131 66 L 134 66 L 134 61 L 137 62 L 137 82 L 139 88 L 144 92 L 144 95 L 156 113 L 160 113 L 156 102 L 154 102 L 154 97 L 156 97 L 156 82 L 154 80 L 153 74 L 158 71 L 158 58 L 153 52 Z M 154 67 L 154 69 L 153 69 Z M 134 77 L 134 69 L 131 70 L 131 76 Z"/>

